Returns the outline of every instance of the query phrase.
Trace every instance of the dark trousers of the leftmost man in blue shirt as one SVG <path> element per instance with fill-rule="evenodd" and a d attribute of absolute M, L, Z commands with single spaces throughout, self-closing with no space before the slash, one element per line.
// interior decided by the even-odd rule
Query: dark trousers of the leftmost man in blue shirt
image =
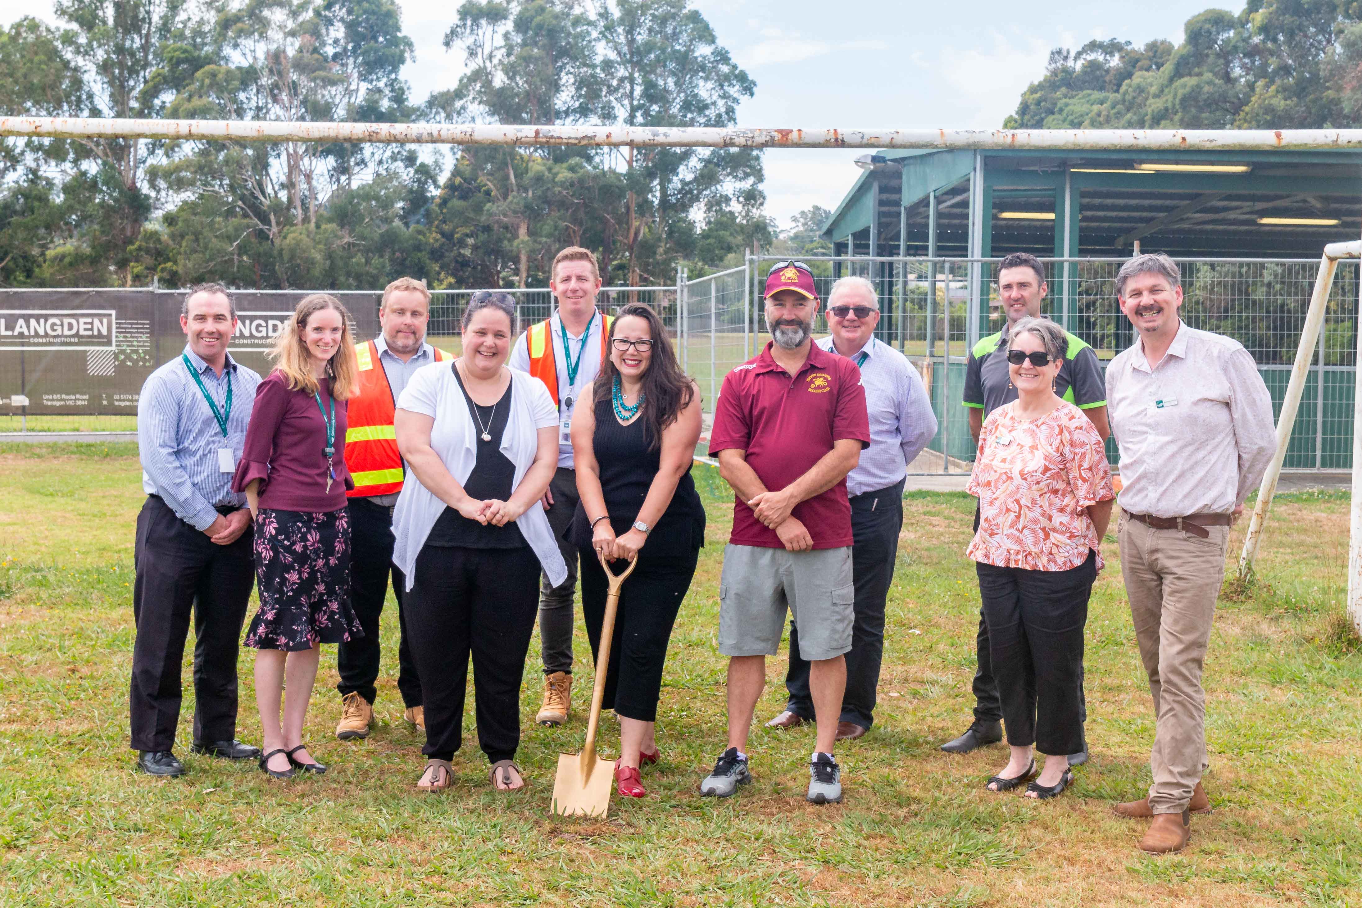
<path fill-rule="evenodd" d="M 170 750 L 180 724 L 184 641 L 193 615 L 193 739 L 237 735 L 237 648 L 255 585 L 248 525 L 230 546 L 180 520 L 157 496 L 138 513 L 132 562 L 133 750 Z"/>

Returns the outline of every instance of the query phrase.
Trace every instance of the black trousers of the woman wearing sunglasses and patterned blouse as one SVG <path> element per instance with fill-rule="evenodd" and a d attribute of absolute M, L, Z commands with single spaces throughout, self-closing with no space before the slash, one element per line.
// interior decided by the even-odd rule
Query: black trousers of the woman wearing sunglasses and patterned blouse
<path fill-rule="evenodd" d="M 1083 750 L 1083 629 L 1096 553 L 1069 570 L 975 568 L 1008 743 Z"/>

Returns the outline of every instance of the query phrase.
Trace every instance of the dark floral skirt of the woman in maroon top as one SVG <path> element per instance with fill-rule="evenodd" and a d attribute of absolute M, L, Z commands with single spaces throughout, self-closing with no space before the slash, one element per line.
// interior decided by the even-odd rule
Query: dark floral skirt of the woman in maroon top
<path fill-rule="evenodd" d="M 350 606 L 350 520 L 345 508 L 317 513 L 262 509 L 255 521 L 260 610 L 247 630 L 257 649 L 311 649 L 362 637 Z"/>

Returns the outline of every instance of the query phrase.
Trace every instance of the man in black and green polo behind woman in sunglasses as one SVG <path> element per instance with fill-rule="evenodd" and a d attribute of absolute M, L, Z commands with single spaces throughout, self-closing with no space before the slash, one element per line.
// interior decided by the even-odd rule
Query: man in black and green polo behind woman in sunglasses
<path fill-rule="evenodd" d="M 1026 316 L 1041 316 L 1041 304 L 1049 287 L 1045 282 L 1045 265 L 1035 256 L 1013 252 L 998 265 L 998 302 L 1007 323 L 1002 331 L 989 335 L 974 344 L 966 359 L 964 406 L 970 412 L 970 434 L 979 442 L 983 421 L 994 408 L 1017 399 L 1016 388 L 1008 374 L 1008 328 Z M 1069 335 L 1069 348 L 1064 365 L 1056 377 L 1056 393 L 1077 406 L 1088 415 L 1098 434 L 1105 441 L 1111 434 L 1106 418 L 1106 381 L 1102 365 L 1092 347 Z M 974 528 L 979 528 L 979 515 L 974 515 Z M 949 753 L 970 753 L 975 747 L 1002 741 L 1002 704 L 998 700 L 997 682 L 993 679 L 993 663 L 989 658 L 989 629 L 979 613 L 978 670 L 974 672 L 974 723 L 955 741 L 941 745 Z M 1083 719 L 1087 720 L 1084 707 Z M 1069 764 L 1087 761 L 1087 751 L 1069 754 Z"/>

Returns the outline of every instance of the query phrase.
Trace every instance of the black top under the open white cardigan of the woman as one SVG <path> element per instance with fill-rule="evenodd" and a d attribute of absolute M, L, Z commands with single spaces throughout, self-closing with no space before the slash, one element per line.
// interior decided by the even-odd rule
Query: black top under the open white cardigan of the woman
<path fill-rule="evenodd" d="M 501 436 L 507 430 L 507 422 L 511 421 L 511 388 L 515 383 L 507 385 L 500 400 L 490 407 L 484 407 L 469 396 L 469 389 L 463 387 L 463 376 L 459 374 L 452 362 L 449 368 L 454 369 L 459 391 L 463 392 L 463 399 L 469 404 L 469 418 L 473 419 L 474 432 L 478 433 L 478 460 L 464 481 L 463 490 L 469 493 L 470 498 L 478 501 L 486 498 L 505 501 L 511 497 L 511 485 L 515 482 L 515 464 L 501 453 Z M 489 441 L 482 440 L 482 426 L 486 426 L 488 434 L 492 436 Z M 515 521 L 504 527 L 484 525 L 445 505 L 439 520 L 430 528 L 430 535 L 426 536 L 426 545 L 441 549 L 454 546 L 463 549 L 523 549 L 528 543 Z"/>

